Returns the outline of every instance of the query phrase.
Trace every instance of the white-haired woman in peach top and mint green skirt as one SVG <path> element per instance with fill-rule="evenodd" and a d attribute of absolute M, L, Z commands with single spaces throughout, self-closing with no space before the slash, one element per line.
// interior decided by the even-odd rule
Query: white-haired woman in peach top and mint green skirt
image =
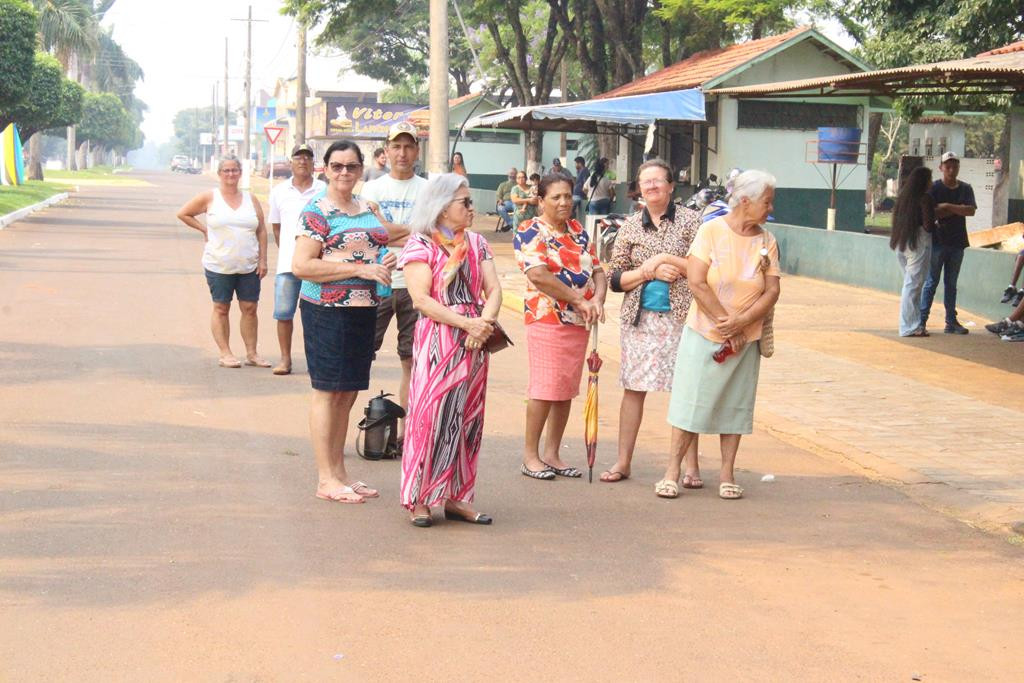
<path fill-rule="evenodd" d="M 662 498 L 679 496 L 683 454 L 697 434 L 720 434 L 719 497 L 742 498 L 733 465 L 739 438 L 754 430 L 754 399 L 761 354 L 757 342 L 765 315 L 778 300 L 778 244 L 762 227 L 772 211 L 775 178 L 764 171 L 739 174 L 729 213 L 697 230 L 686 273 L 693 303 L 676 355 L 669 401 L 672 452 Z"/>

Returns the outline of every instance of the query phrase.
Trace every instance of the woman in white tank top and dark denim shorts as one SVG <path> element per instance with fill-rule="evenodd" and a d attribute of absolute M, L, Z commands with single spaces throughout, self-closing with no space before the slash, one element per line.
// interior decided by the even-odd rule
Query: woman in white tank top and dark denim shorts
<path fill-rule="evenodd" d="M 222 368 L 241 368 L 229 345 L 228 313 L 237 295 L 242 310 L 242 341 L 246 345 L 246 365 L 269 368 L 256 352 L 256 304 L 260 280 L 266 274 L 266 224 L 263 207 L 249 193 L 239 190 L 242 164 L 238 159 L 222 159 L 217 167 L 220 184 L 200 193 L 178 211 L 178 219 L 203 233 L 203 268 L 213 298 L 210 328 L 220 349 Z M 206 225 L 196 217 L 206 214 Z"/>

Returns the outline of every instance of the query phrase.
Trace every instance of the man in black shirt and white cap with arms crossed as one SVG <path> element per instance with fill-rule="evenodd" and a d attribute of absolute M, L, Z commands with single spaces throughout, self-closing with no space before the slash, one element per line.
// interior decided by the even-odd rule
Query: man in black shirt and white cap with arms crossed
<path fill-rule="evenodd" d="M 921 326 L 928 323 L 932 309 L 932 299 L 942 276 L 943 303 L 946 307 L 947 335 L 966 335 L 967 328 L 956 319 L 956 279 L 959 278 L 964 250 L 970 246 L 967 239 L 967 217 L 973 216 L 978 205 L 974 201 L 974 190 L 966 182 L 959 182 L 959 159 L 952 152 L 942 155 L 939 164 L 942 179 L 936 180 L 929 190 L 935 201 L 935 231 L 932 233 L 932 263 L 921 293 Z"/>

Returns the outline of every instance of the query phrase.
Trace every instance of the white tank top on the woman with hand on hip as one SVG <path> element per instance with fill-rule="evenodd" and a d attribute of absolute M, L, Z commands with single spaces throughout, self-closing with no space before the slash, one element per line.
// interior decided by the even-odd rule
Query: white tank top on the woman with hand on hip
<path fill-rule="evenodd" d="M 227 206 L 219 189 L 206 210 L 206 249 L 203 267 L 222 274 L 252 272 L 259 262 L 256 228 L 259 218 L 249 193 L 242 193 L 238 209 Z"/>

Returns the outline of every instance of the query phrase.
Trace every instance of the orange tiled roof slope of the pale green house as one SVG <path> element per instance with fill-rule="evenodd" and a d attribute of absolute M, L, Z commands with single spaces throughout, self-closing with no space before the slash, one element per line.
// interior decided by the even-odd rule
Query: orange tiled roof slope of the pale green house
<path fill-rule="evenodd" d="M 632 83 L 621 85 L 613 90 L 598 95 L 598 97 L 644 95 L 651 92 L 695 88 L 708 81 L 728 74 L 733 69 L 810 30 L 810 27 L 798 27 L 778 36 L 769 36 L 760 40 L 752 40 L 745 43 L 729 45 L 728 47 L 697 52 L 682 61 L 677 61 L 671 67 L 666 67 L 653 74 L 638 78 Z"/>

